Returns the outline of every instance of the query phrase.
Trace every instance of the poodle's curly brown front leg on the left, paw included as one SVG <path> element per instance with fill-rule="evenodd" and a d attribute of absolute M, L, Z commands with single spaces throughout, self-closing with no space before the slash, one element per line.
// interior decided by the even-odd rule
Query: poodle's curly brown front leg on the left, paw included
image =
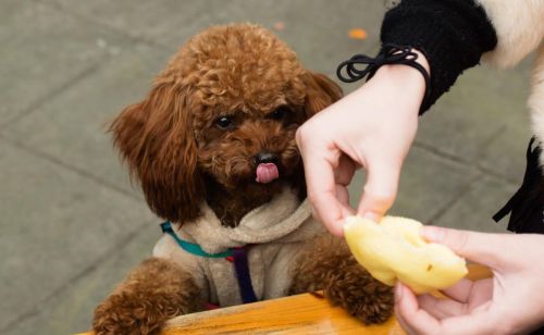
<path fill-rule="evenodd" d="M 176 263 L 141 262 L 95 310 L 92 327 L 102 334 L 158 334 L 166 320 L 202 307 L 200 289 Z"/>

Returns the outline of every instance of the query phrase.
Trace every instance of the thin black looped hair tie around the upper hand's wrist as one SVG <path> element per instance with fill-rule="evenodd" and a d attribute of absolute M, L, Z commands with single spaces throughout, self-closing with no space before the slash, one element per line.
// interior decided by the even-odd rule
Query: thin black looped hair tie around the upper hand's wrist
<path fill-rule="evenodd" d="M 369 80 L 375 74 L 380 66 L 385 64 L 403 64 L 411 66 L 418 70 L 425 79 L 425 97 L 428 99 L 431 95 L 431 77 L 426 70 L 416 60 L 418 54 L 412 51 L 412 47 L 408 46 L 397 46 L 393 44 L 387 44 L 382 47 L 380 53 L 375 58 L 368 57 L 366 54 L 356 54 L 349 60 L 342 62 L 336 69 L 336 75 L 344 83 L 355 83 L 368 76 Z M 363 70 L 358 70 L 356 65 L 366 64 L 367 67 Z M 342 74 L 343 69 L 346 69 L 347 77 Z"/>

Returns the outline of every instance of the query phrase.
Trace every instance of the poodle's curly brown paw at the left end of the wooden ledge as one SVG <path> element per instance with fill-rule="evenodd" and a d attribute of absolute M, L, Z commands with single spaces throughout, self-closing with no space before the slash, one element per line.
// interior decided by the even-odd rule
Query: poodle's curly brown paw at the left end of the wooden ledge
<path fill-rule="evenodd" d="M 153 306 L 121 294 L 110 296 L 95 309 L 92 328 L 96 335 L 159 334 L 164 322 L 163 313 Z"/>

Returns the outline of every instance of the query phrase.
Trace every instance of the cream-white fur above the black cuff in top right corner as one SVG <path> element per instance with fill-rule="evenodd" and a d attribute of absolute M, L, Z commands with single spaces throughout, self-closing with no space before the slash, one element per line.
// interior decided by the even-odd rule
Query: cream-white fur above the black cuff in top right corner
<path fill-rule="evenodd" d="M 544 35 L 544 0 L 477 0 L 497 34 L 497 47 L 483 61 L 499 67 L 518 63 Z"/>

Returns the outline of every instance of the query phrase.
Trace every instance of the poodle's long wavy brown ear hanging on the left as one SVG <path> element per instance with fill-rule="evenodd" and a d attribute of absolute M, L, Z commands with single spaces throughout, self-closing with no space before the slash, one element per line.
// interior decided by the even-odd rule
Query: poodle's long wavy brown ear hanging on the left
<path fill-rule="evenodd" d="M 127 107 L 110 126 L 151 210 L 181 224 L 198 216 L 205 191 L 189 99 L 186 88 L 156 84 L 146 100 Z"/>

